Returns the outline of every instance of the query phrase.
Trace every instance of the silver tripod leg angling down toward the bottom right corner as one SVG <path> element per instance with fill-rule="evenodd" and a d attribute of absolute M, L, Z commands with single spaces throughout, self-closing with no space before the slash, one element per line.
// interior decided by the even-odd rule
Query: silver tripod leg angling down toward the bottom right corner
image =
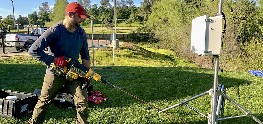
<path fill-rule="evenodd" d="M 263 124 L 263 122 L 261 122 L 257 117 L 255 117 L 254 115 L 252 115 L 251 113 L 249 113 L 246 109 L 244 109 L 242 106 L 240 106 L 239 104 L 237 104 L 234 100 L 232 100 L 230 97 L 228 97 L 226 94 L 221 92 L 221 95 L 223 97 L 225 97 L 227 100 L 229 100 L 232 104 L 234 104 L 236 107 L 238 107 L 241 111 L 243 111 L 247 117 L 252 117 L 256 122 L 258 122 L 259 124 Z"/>

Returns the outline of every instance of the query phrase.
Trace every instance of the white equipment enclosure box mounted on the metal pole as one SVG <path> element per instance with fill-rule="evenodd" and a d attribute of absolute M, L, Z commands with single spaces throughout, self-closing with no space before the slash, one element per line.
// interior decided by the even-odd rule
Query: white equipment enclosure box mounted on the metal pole
<path fill-rule="evenodd" d="M 192 20 L 191 51 L 198 55 L 220 55 L 223 16 Z"/>

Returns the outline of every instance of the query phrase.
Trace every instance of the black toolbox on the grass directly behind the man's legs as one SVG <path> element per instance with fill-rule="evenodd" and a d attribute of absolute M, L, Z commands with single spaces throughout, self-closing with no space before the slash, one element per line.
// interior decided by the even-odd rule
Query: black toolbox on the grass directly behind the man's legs
<path fill-rule="evenodd" d="M 87 87 L 88 96 L 91 96 L 91 91 L 93 91 L 93 86 L 90 84 Z M 66 85 L 63 85 L 62 88 L 58 91 L 57 96 L 54 98 L 53 103 L 55 106 L 62 106 L 63 108 L 73 109 L 75 108 L 75 102 L 70 91 L 67 89 Z"/>

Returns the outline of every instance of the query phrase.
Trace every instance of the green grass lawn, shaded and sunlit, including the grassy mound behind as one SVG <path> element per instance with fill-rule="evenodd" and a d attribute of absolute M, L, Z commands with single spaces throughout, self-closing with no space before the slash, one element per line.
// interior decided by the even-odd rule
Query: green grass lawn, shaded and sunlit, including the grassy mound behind
<path fill-rule="evenodd" d="M 188 64 L 190 67 L 181 67 L 181 60 L 173 53 L 149 49 L 147 46 L 142 47 L 124 43 L 119 49 L 115 49 L 114 64 L 116 65 L 112 65 L 112 48 L 96 49 L 95 67 L 112 67 L 112 69 L 95 69 L 95 72 L 105 77 L 108 82 L 122 88 L 123 91 L 160 109 L 175 105 L 213 87 L 213 69 L 196 68 L 191 64 Z M 41 89 L 46 66 L 32 57 L 28 55 L 0 57 L 0 68 L 0 89 L 29 93 L 36 88 Z M 224 84 L 227 87 L 226 95 L 261 121 L 263 120 L 262 82 L 262 77 L 252 76 L 248 72 L 226 71 L 218 78 L 218 84 Z M 101 91 L 108 100 L 101 104 L 88 105 L 90 124 L 181 124 L 176 119 L 158 113 L 157 109 L 117 91 L 108 84 L 101 84 L 94 80 L 92 84 L 93 90 Z M 189 102 L 188 105 L 207 115 L 210 112 L 210 102 L 211 96 L 206 95 Z M 208 123 L 205 117 L 186 106 L 173 108 L 167 112 L 188 124 Z M 222 117 L 243 114 L 226 100 Z M 73 124 L 75 116 L 75 109 L 67 110 L 51 104 L 45 124 Z M 19 119 L 0 117 L 0 123 L 26 124 L 30 117 L 31 115 Z M 247 117 L 219 122 L 221 124 L 257 124 Z"/>

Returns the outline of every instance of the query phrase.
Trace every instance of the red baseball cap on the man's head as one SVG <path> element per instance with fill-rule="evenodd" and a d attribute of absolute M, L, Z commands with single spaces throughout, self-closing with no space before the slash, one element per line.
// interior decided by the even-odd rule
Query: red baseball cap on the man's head
<path fill-rule="evenodd" d="M 71 2 L 67 5 L 65 12 L 77 13 L 81 18 L 89 18 L 90 16 L 85 12 L 84 8 L 77 2 Z"/>

